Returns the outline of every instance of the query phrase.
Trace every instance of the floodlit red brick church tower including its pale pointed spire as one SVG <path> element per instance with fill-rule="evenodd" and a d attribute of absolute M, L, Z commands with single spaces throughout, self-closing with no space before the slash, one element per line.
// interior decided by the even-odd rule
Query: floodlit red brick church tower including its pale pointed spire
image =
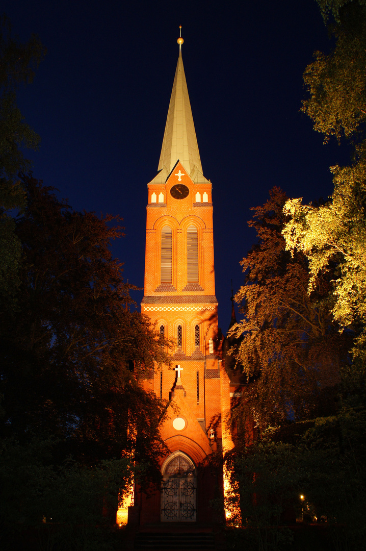
<path fill-rule="evenodd" d="M 145 287 L 141 311 L 173 338 L 172 367 L 156 369 L 146 389 L 168 401 L 161 435 L 161 492 L 140 505 L 140 523 L 207 522 L 220 476 L 205 467 L 222 451 L 230 389 L 221 369 L 215 296 L 212 186 L 203 175 L 185 80 L 182 44 L 158 172 L 148 184 Z M 225 437 L 224 437 L 225 439 Z"/>

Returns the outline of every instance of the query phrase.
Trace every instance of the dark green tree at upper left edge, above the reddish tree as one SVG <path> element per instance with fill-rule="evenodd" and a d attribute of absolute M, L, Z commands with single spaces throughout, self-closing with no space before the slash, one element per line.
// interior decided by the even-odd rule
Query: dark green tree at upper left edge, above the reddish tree
<path fill-rule="evenodd" d="M 45 52 L 36 35 L 22 44 L 12 35 L 6 15 L 0 17 L 0 302 L 7 307 L 15 307 L 21 256 L 8 212 L 24 208 L 25 193 L 18 174 L 29 171 L 30 161 L 23 149 L 37 149 L 40 142 L 18 109 L 16 92 L 20 84 L 32 82 Z"/>

